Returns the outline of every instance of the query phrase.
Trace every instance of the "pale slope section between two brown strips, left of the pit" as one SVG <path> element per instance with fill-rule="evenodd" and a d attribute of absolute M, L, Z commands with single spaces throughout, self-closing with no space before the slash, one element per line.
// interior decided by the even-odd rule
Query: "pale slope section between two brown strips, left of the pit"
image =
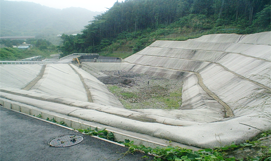
<path fill-rule="evenodd" d="M 68 64 L 46 65 L 42 78 L 30 91 L 88 101 L 80 77 Z"/>

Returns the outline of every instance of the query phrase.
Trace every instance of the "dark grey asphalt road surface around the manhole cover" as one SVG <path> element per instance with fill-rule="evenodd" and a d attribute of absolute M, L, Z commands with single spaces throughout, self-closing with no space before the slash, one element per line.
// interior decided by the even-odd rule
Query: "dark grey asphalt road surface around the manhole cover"
<path fill-rule="evenodd" d="M 0 107 L 0 160 L 152 160 L 146 154 L 123 153 L 127 148 Z M 81 135 L 69 147 L 49 146 L 62 135 Z M 149 156 L 149 155 L 148 155 Z"/>

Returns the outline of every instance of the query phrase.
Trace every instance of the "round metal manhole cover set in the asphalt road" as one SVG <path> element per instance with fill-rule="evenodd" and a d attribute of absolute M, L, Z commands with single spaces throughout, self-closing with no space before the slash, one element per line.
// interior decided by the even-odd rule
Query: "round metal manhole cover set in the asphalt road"
<path fill-rule="evenodd" d="M 54 147 L 67 147 L 80 143 L 83 137 L 80 135 L 63 135 L 52 139 L 49 142 L 50 146 Z"/>

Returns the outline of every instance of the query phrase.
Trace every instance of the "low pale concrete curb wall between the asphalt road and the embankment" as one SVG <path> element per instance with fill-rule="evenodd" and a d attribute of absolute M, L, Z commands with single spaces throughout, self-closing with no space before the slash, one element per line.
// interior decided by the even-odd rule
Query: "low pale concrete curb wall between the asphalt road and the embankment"
<path fill-rule="evenodd" d="M 46 122 L 49 122 L 52 124 L 56 124 L 58 126 L 61 126 L 61 127 L 64 127 L 64 128 L 70 129 L 70 130 L 77 131 L 75 129 L 87 129 L 87 128 L 94 129 L 96 127 L 98 129 L 106 128 L 107 131 L 112 132 L 114 134 L 115 141 L 124 141 L 125 139 L 129 139 L 130 141 L 134 141 L 134 144 L 145 145 L 146 147 L 152 147 L 152 148 L 156 148 L 157 146 L 166 147 L 166 146 L 170 145 L 170 146 L 185 147 L 187 149 L 192 149 L 192 150 L 196 150 L 196 151 L 200 149 L 200 148 L 197 148 L 194 146 L 188 146 L 188 145 L 181 144 L 178 142 L 164 140 L 164 139 L 160 139 L 160 138 L 156 138 L 156 137 L 152 137 L 152 136 L 148 136 L 148 135 L 144 135 L 144 134 L 139 134 L 139 133 L 136 134 L 137 136 L 134 136 L 133 135 L 134 132 L 125 131 L 125 130 L 121 130 L 118 128 L 109 127 L 106 125 L 101 125 L 101 124 L 98 124 L 95 122 L 85 121 L 85 120 L 82 120 L 79 118 L 74 118 L 74 117 L 70 117 L 67 115 L 63 115 L 63 114 L 58 114 L 55 112 L 39 109 L 39 108 L 30 106 L 30 105 L 22 104 L 19 102 L 14 102 L 14 101 L 4 99 L 4 98 L 0 98 L 0 99 L 1 99 L 0 104 L 6 109 L 10 109 L 10 110 L 28 115 L 30 117 L 34 117 L 36 119 L 40 119 L 40 120 L 43 120 L 43 121 L 46 121 Z M 41 116 L 41 118 L 38 118 L 37 116 Z M 55 119 L 57 122 L 63 121 L 63 122 L 65 122 L 65 124 L 67 124 L 67 127 L 63 126 L 63 125 L 59 125 L 57 123 L 47 121 L 46 119 L 48 119 L 48 118 L 50 120 Z M 124 131 L 124 132 L 122 132 L 122 131 Z M 139 135 L 141 137 L 138 137 Z M 59 136 L 59 137 L 61 137 L 61 136 Z M 114 141 L 110 141 L 110 140 L 107 140 L 104 138 L 100 138 L 98 136 L 92 136 L 92 137 L 95 137 L 95 138 L 98 138 L 98 139 L 101 139 L 101 140 L 104 140 L 104 141 L 107 141 L 107 142 L 110 142 L 113 144 L 117 144 L 119 146 L 124 146 L 123 144 L 120 144 L 120 143 L 117 143 Z M 59 142 L 57 143 L 57 141 L 54 141 L 58 145 L 57 147 L 62 147 L 62 146 L 64 147 L 64 145 L 67 144 L 65 142 L 68 142 L 68 141 L 70 141 L 69 142 L 69 144 L 71 144 L 70 146 L 72 146 L 72 143 L 78 142 L 78 140 L 72 140 L 72 139 L 69 140 L 69 138 L 68 139 L 66 138 L 66 141 L 63 141 L 63 140 L 61 140 L 61 138 L 58 138 L 58 137 L 56 137 L 56 138 L 60 139 L 60 140 L 57 140 L 57 141 L 60 141 L 60 143 Z M 54 139 L 55 138 L 53 138 L 52 140 L 54 140 Z M 61 144 L 61 141 L 62 141 L 62 144 Z M 51 142 L 49 142 L 50 146 L 53 146 L 53 144 L 54 143 L 51 144 Z"/>

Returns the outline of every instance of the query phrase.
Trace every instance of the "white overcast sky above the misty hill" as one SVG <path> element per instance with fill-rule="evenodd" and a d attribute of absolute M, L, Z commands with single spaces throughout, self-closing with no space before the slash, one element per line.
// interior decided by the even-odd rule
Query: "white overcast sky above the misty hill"
<path fill-rule="evenodd" d="M 117 0 L 8 0 L 8 1 L 25 1 L 34 2 L 43 6 L 65 9 L 69 7 L 81 7 L 90 11 L 107 11 Z M 118 2 L 122 2 L 119 0 Z"/>

